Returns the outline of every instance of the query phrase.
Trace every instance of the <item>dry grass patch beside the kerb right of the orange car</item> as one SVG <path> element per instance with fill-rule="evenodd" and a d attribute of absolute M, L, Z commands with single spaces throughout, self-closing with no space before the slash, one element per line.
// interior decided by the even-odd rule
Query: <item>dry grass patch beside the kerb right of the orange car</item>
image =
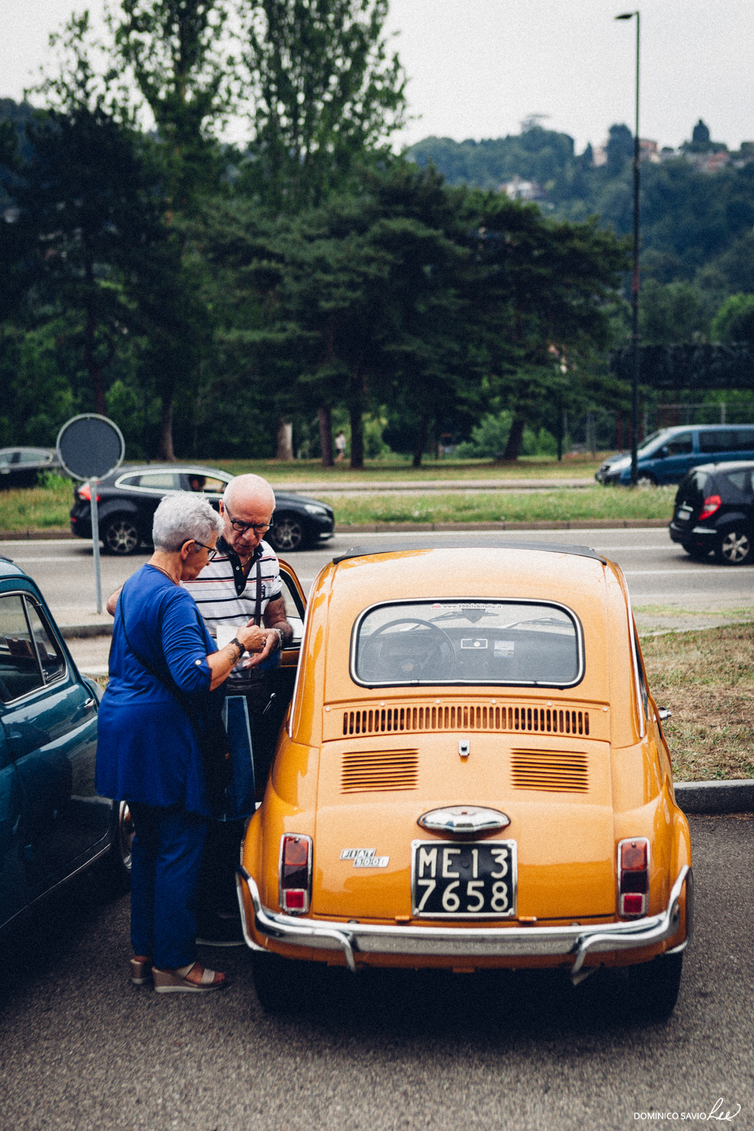
<path fill-rule="evenodd" d="M 641 641 L 678 782 L 754 777 L 754 624 Z"/>

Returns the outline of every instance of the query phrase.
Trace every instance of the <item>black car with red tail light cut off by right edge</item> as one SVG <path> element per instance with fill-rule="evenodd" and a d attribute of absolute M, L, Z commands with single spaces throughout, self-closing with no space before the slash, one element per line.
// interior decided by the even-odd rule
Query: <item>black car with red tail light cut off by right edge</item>
<path fill-rule="evenodd" d="M 670 537 L 692 558 L 726 566 L 754 561 L 754 463 L 702 464 L 684 475 Z"/>

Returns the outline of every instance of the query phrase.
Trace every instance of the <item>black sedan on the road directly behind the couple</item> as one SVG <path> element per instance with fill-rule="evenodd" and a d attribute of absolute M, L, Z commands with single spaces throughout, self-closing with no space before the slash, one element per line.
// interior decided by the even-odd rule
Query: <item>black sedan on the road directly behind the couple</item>
<path fill-rule="evenodd" d="M 227 472 L 198 464 L 150 464 L 148 467 L 119 467 L 97 487 L 99 538 L 105 553 L 135 554 L 151 545 L 151 520 L 157 504 L 168 491 L 200 491 L 215 509 L 233 478 Z M 305 495 L 276 491 L 277 507 L 266 541 L 277 553 L 291 553 L 315 546 L 332 537 L 332 507 Z M 89 484 L 73 489 L 70 512 L 71 530 L 80 538 L 92 537 L 92 495 Z"/>

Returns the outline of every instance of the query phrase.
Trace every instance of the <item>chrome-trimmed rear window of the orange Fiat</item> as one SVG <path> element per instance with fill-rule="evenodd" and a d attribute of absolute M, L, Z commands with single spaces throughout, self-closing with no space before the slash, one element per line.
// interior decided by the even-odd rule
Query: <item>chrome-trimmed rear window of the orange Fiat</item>
<path fill-rule="evenodd" d="M 366 687 L 572 687 L 583 676 L 581 624 L 571 610 L 549 602 L 375 605 L 354 627 L 352 676 Z"/>

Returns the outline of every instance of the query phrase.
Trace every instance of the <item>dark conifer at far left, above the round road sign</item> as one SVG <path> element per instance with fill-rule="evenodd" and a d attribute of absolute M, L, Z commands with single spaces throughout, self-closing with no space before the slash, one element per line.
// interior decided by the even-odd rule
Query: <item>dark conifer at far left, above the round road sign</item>
<path fill-rule="evenodd" d="M 159 239 L 154 178 L 133 133 L 84 102 L 28 128 L 32 159 L 14 188 L 25 238 L 25 284 L 72 320 L 95 412 L 105 413 L 106 371 L 136 322 L 131 283 Z"/>

